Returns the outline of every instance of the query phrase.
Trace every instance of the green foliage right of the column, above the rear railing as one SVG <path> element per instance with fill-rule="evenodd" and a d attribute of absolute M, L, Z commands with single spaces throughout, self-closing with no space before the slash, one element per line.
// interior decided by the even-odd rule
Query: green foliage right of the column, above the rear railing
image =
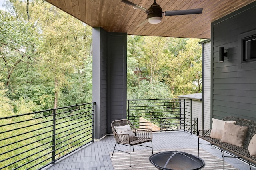
<path fill-rule="evenodd" d="M 171 98 L 200 92 L 202 51 L 199 41 L 128 36 L 128 99 Z"/>

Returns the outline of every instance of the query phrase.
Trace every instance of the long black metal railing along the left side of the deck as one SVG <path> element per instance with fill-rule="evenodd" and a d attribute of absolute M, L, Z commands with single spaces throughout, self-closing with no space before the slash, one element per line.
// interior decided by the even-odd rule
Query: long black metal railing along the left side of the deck
<path fill-rule="evenodd" d="M 86 103 L 0 118 L 0 170 L 40 169 L 94 141 Z"/>

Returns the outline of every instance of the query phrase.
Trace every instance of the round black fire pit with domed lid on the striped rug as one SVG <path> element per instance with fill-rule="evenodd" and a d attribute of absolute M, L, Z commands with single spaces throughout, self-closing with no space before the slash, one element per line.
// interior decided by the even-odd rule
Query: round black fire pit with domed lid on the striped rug
<path fill-rule="evenodd" d="M 152 154 L 149 161 L 159 170 L 200 170 L 205 165 L 198 156 L 180 151 Z"/>

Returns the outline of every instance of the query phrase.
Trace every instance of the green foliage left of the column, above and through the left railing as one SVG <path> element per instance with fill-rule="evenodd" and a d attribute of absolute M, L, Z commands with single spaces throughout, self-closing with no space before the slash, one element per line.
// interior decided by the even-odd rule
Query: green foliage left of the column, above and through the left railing
<path fill-rule="evenodd" d="M 8 12 L 0 11 L 0 117 L 51 109 L 57 103 L 61 107 L 91 102 L 92 28 L 43 1 L 30 0 L 30 18 L 24 1 L 11 0 L 6 6 Z M 20 159 L 22 160 L 8 168 L 17 168 L 36 157 L 42 156 L 35 163 L 50 158 L 50 114 L 37 113 L 1 120 L 1 125 L 4 125 L 34 119 L 1 127 L 0 132 L 7 132 L 1 134 L 1 139 L 15 134 L 22 135 L 1 142 L 1 146 L 8 146 L 2 147 L 0 153 L 8 153 L 1 155 L 1 160 L 6 161 L 1 162 L 0 167 Z M 69 114 L 69 118 L 56 120 L 56 158 L 73 150 L 73 146 L 82 145 L 82 140 L 87 142 L 92 138 L 91 127 L 84 127 L 92 125 L 91 120 L 84 117 L 88 113 L 78 116 L 76 111 L 68 111 L 65 116 Z M 57 117 L 60 118 L 59 115 Z M 82 121 L 77 119 L 79 117 Z M 37 124 L 38 122 L 42 124 Z M 27 125 L 33 126 L 26 127 Z M 14 128 L 18 129 L 13 130 Z M 88 139 L 80 139 L 84 135 Z M 40 141 L 33 143 L 36 140 Z M 10 144 L 12 142 L 17 143 Z M 40 149 L 35 148 L 37 146 Z M 14 149 L 18 147 L 21 148 Z M 19 155 L 14 156 L 16 154 Z M 34 156 L 30 156 L 32 154 Z M 50 161 L 51 159 L 48 163 Z M 31 166 L 28 163 L 22 168 Z M 34 168 L 40 166 L 42 164 Z"/>

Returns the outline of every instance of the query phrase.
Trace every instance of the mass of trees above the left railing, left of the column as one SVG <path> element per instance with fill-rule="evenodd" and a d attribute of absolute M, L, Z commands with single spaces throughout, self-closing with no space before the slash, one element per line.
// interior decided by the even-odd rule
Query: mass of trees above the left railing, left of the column
<path fill-rule="evenodd" d="M 14 111 L 22 100 L 40 106 L 33 111 L 57 107 L 58 99 L 61 106 L 91 102 L 92 28 L 43 1 L 10 0 L 5 6 L 0 69 Z"/>

